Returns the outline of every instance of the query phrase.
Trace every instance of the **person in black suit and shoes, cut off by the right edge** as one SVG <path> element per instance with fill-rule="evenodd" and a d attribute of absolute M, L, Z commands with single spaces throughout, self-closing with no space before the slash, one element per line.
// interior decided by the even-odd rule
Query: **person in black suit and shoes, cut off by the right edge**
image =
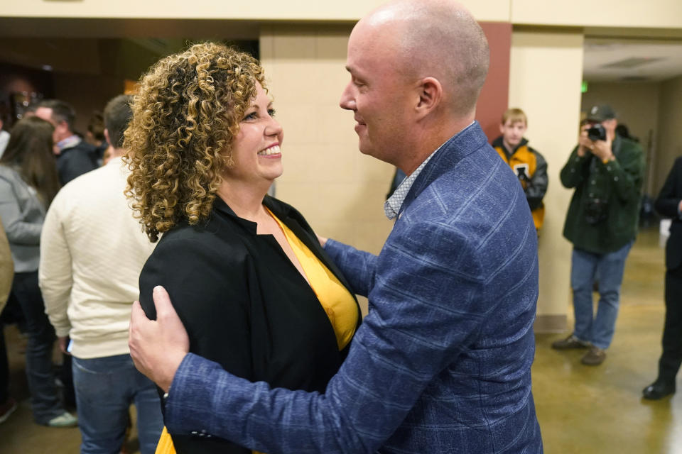
<path fill-rule="evenodd" d="M 666 243 L 666 322 L 659 376 L 644 388 L 644 399 L 661 399 L 675 392 L 675 377 L 682 363 L 682 157 L 678 157 L 654 203 L 656 211 L 671 218 Z"/>

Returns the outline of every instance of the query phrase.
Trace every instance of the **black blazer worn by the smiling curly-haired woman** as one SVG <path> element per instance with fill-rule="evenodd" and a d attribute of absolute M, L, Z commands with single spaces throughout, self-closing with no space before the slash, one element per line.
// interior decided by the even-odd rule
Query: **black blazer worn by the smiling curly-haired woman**
<path fill-rule="evenodd" d="M 303 216 L 270 196 L 264 205 L 350 292 Z M 325 309 L 274 237 L 256 235 L 256 223 L 239 218 L 219 197 L 205 224 L 178 223 L 146 262 L 140 299 L 150 319 L 156 319 L 156 285 L 170 294 L 188 331 L 190 351 L 247 380 L 325 392 L 347 355 L 350 343 L 339 351 Z M 251 454 L 204 434 L 171 436 L 178 453 Z"/>

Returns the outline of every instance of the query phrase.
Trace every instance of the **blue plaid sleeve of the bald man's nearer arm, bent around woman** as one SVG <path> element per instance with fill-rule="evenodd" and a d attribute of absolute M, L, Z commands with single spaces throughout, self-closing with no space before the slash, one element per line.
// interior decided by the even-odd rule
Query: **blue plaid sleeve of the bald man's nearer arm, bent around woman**
<path fill-rule="evenodd" d="M 325 394 L 269 389 L 190 354 L 171 384 L 168 428 L 205 430 L 268 453 L 376 452 L 490 316 L 480 304 L 480 281 L 448 266 L 443 253 L 456 250 L 476 267 L 485 251 L 444 228 L 415 223 L 384 248 L 381 286 L 369 295 L 375 309 Z M 425 286 L 432 298 L 420 297 Z M 457 311 L 446 307 L 453 295 L 461 296 Z"/>

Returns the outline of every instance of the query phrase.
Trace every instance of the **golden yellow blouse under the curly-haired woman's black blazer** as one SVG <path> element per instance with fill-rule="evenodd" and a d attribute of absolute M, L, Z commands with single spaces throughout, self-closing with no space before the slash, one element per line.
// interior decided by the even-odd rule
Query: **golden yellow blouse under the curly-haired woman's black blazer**
<path fill-rule="evenodd" d="M 348 292 L 346 287 L 343 287 L 339 279 L 336 278 L 323 262 L 320 262 L 315 257 L 313 251 L 308 249 L 308 246 L 299 240 L 291 229 L 284 225 L 270 210 L 268 212 L 279 224 L 287 243 L 291 246 L 298 262 L 301 263 L 303 272 L 305 272 L 305 276 L 308 277 L 308 282 L 310 282 L 310 287 L 315 292 L 318 300 L 320 300 L 320 304 L 322 304 L 325 312 L 327 312 L 329 321 L 332 323 L 339 350 L 343 350 L 350 343 L 355 333 L 357 317 L 359 316 L 352 294 Z M 158 445 L 156 445 L 156 454 L 175 454 L 173 441 L 168 431 L 166 431 L 166 427 L 163 428 L 161 438 Z M 253 451 L 253 454 L 263 453 Z"/>

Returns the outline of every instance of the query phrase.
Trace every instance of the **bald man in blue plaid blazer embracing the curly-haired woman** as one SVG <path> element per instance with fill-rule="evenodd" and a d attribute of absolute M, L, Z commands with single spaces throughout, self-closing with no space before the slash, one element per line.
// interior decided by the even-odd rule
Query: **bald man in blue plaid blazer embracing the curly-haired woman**
<path fill-rule="evenodd" d="M 269 389 L 187 353 L 157 287 L 157 321 L 136 304 L 129 342 L 167 391 L 171 433 L 270 454 L 542 452 L 536 233 L 521 185 L 474 120 L 488 60 L 480 26 L 450 1 L 394 2 L 357 23 L 340 104 L 359 150 L 407 177 L 384 206 L 396 223 L 378 256 L 320 243 L 369 315 L 325 394 Z"/>

